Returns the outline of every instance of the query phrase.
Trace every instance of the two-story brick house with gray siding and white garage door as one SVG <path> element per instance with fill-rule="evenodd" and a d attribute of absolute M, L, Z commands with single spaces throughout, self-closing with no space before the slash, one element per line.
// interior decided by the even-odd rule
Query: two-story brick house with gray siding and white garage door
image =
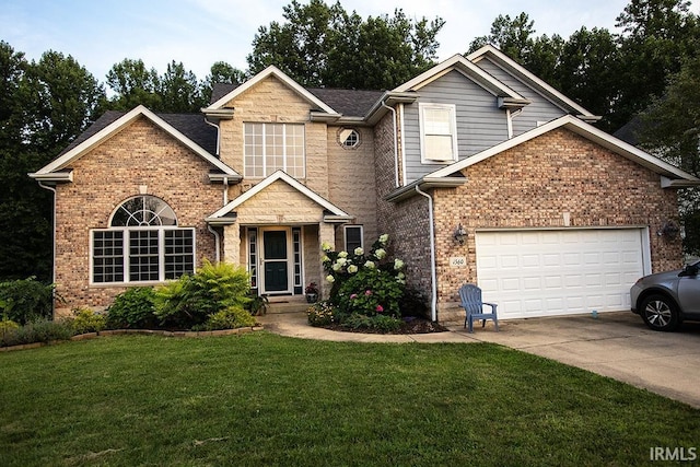
<path fill-rule="evenodd" d="M 629 310 L 638 277 L 679 265 L 664 225 L 676 189 L 700 185 L 490 46 L 386 92 L 305 89 L 269 67 L 212 101 L 109 112 L 31 174 L 56 192 L 57 314 L 203 258 L 293 300 L 324 283 L 323 242 L 382 233 L 433 319 L 459 314 L 465 282 L 505 319 Z"/>

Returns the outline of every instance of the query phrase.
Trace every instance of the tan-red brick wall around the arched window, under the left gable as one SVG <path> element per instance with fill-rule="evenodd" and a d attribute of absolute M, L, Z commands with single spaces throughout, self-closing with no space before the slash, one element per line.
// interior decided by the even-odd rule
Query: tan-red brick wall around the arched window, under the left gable
<path fill-rule="evenodd" d="M 108 226 L 126 199 L 147 194 L 167 202 L 179 226 L 195 227 L 197 265 L 214 260 L 214 240 L 203 219 L 222 203 L 221 185 L 210 185 L 210 164 L 141 117 L 72 164 L 74 182 L 57 187 L 56 283 L 73 307 L 103 308 L 124 287 L 90 285 L 90 230 Z"/>

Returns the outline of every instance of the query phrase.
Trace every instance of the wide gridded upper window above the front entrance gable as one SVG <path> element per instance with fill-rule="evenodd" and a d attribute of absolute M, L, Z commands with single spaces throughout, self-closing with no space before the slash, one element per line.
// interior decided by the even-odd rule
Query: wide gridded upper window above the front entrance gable
<path fill-rule="evenodd" d="M 262 178 L 284 171 L 304 178 L 304 125 L 244 124 L 244 176 Z"/>

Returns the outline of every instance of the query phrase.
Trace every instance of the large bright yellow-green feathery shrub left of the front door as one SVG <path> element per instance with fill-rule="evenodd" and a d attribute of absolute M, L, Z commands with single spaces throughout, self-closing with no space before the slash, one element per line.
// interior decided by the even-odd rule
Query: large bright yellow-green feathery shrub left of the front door
<path fill-rule="evenodd" d="M 196 273 L 155 289 L 155 316 L 163 326 L 189 329 L 222 310 L 245 307 L 249 291 L 245 268 L 205 261 Z"/>

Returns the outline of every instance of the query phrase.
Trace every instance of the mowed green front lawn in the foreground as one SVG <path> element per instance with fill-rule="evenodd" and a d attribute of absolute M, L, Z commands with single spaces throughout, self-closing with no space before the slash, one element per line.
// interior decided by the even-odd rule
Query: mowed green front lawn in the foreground
<path fill-rule="evenodd" d="M 700 410 L 488 343 L 267 332 L 0 353 L 0 465 L 639 465 Z"/>

